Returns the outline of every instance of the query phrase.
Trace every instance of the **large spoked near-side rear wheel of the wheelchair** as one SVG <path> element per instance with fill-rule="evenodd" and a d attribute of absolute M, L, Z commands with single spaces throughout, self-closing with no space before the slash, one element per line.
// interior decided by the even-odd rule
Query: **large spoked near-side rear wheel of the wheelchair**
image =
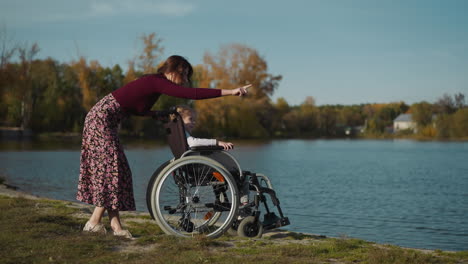
<path fill-rule="evenodd" d="M 151 189 L 150 204 L 165 233 L 214 238 L 237 217 L 238 199 L 236 182 L 221 164 L 190 156 L 161 170 Z"/>

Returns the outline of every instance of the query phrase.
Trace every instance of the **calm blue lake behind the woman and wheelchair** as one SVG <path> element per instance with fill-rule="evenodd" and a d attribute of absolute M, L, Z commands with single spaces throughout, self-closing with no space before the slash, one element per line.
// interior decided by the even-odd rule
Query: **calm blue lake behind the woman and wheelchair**
<path fill-rule="evenodd" d="M 5 145 L 5 144 L 3 144 Z M 13 147 L 12 147 L 13 146 Z M 0 174 L 21 190 L 73 201 L 79 143 L 10 143 Z M 468 143 L 410 140 L 275 140 L 239 143 L 243 170 L 270 177 L 285 229 L 412 248 L 468 250 Z M 172 157 L 166 146 L 128 146 L 137 210 L 146 184 Z"/>

